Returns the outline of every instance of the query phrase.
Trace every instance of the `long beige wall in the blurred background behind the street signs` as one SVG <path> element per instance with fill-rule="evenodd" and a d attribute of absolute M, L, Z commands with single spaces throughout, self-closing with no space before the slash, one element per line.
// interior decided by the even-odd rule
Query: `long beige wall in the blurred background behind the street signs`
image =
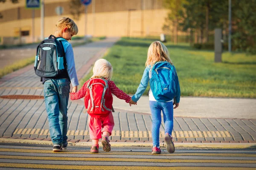
<path fill-rule="evenodd" d="M 0 37 L 18 36 L 18 30 L 21 29 L 21 31 L 26 31 L 26 30 L 29 31 L 30 38 L 28 38 L 28 41 L 32 41 L 32 18 L 29 17 L 29 13 L 31 13 L 32 11 L 31 9 L 24 8 L 25 1 L 24 2 L 23 1 L 24 0 L 20 0 L 20 3 L 15 5 L 7 3 L 9 2 L 7 1 L 5 3 L 6 8 L 3 8 L 3 6 L 0 7 L 0 12 L 6 11 L 6 10 L 9 10 L 9 11 L 12 10 L 13 12 L 11 13 L 13 15 L 17 15 L 17 7 L 20 7 L 20 11 L 23 11 L 22 13 L 23 15 L 22 17 L 20 17 L 20 20 L 17 20 L 17 17 L 13 17 L 12 15 L 9 16 L 9 18 L 5 18 L 5 20 L 2 20 L 2 21 L 0 20 L 0 30 L 1 30 Z M 58 6 L 60 2 L 58 2 L 58 0 L 55 0 L 54 6 L 53 6 L 52 5 L 53 3 L 50 3 L 49 0 L 46 1 L 46 7 L 47 7 L 47 4 L 51 6 L 48 6 L 47 8 L 45 8 L 46 13 L 48 14 L 46 14 L 44 17 L 44 37 L 47 37 L 50 34 L 54 34 L 55 23 L 59 18 L 61 17 L 73 18 L 72 15 L 69 14 L 68 12 L 67 1 L 68 0 L 62 0 L 62 2 L 64 3 L 61 6 L 64 7 L 64 15 L 61 15 L 61 16 L 57 16 L 54 11 L 55 6 Z M 98 0 L 98 2 L 99 1 L 104 2 L 102 0 Z M 115 0 L 112 0 L 112 1 L 115 1 Z M 127 0 L 119 0 L 118 2 L 120 1 L 129 2 Z M 138 1 L 140 0 L 137 0 L 136 2 Z M 148 1 L 148 0 L 145 0 L 145 1 Z M 157 0 L 154 0 L 154 1 L 157 1 Z M 128 5 L 131 5 L 131 4 L 129 3 Z M 143 7 L 144 10 L 139 10 L 138 8 L 142 8 L 142 6 L 139 6 L 139 5 L 140 4 L 137 4 L 137 10 L 130 11 L 130 26 L 128 22 L 129 11 L 125 10 L 126 8 L 122 8 L 122 10 L 118 11 L 117 8 L 115 7 L 116 9 L 113 10 L 112 12 L 99 12 L 99 11 L 108 11 L 106 8 L 99 6 L 98 8 L 96 8 L 98 9 L 98 12 L 96 10 L 95 14 L 91 13 L 91 9 L 88 10 L 87 35 L 92 35 L 95 37 L 98 37 L 98 36 L 121 37 L 121 36 L 129 36 L 129 35 L 132 37 L 137 37 L 137 36 L 145 36 L 145 35 L 160 35 L 162 33 L 162 27 L 163 27 L 165 17 L 167 16 L 167 11 L 163 8 L 146 9 L 145 7 Z M 157 5 L 159 6 L 159 2 Z M 12 8 L 10 6 L 12 6 Z M 127 7 L 127 8 L 130 8 L 130 7 Z M 35 37 L 36 37 L 35 40 L 38 40 L 41 34 L 40 9 L 35 11 L 36 11 L 35 12 Z M 49 14 L 50 11 L 53 11 L 52 15 Z M 8 15 L 10 14 L 8 13 Z M 80 19 L 75 20 L 75 22 L 79 28 L 78 35 L 83 36 L 85 34 L 85 14 L 84 13 L 81 14 Z"/>

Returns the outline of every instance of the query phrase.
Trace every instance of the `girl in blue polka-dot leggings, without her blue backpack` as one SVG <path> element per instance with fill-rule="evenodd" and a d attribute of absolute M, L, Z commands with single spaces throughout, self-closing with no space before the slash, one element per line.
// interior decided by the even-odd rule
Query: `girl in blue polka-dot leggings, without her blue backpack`
<path fill-rule="evenodd" d="M 140 85 L 137 88 L 136 94 L 131 97 L 130 104 L 136 104 L 137 101 L 140 99 L 144 91 L 146 90 L 148 86 L 148 82 L 150 80 L 149 78 L 149 72 L 150 69 L 156 64 L 157 62 L 169 62 L 172 67 L 173 63 L 171 59 L 169 58 L 169 52 L 165 45 L 163 45 L 162 42 L 155 41 L 152 42 L 151 45 L 148 48 L 148 58 L 145 63 L 145 71 L 143 74 L 143 77 L 140 81 Z M 168 63 L 167 63 L 168 64 Z M 175 71 L 175 68 L 173 69 Z M 156 71 L 157 72 L 157 71 Z M 158 74 L 158 73 L 157 73 Z M 172 75 L 172 74 L 171 74 Z M 175 71 L 175 75 L 177 75 Z M 173 78 L 172 78 L 173 79 Z M 175 105 L 175 108 L 179 106 L 180 102 L 180 85 L 179 81 L 177 79 L 176 84 L 176 93 L 175 98 L 176 102 L 174 103 L 174 99 L 171 99 L 166 102 L 158 102 L 155 97 L 153 96 L 153 93 L 151 91 L 151 88 L 149 89 L 149 106 L 151 110 L 152 115 L 152 139 L 153 139 L 153 149 L 152 154 L 160 154 L 160 145 L 159 145 L 159 130 L 161 125 L 161 111 L 163 111 L 163 120 L 165 124 L 165 142 L 167 144 L 167 151 L 169 153 L 174 153 L 175 147 L 172 142 L 172 129 L 173 129 L 173 105 Z"/>

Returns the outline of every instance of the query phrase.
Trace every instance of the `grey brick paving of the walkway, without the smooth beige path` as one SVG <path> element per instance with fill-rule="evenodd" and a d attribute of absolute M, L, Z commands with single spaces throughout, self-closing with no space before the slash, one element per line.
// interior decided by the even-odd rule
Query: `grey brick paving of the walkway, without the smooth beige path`
<path fill-rule="evenodd" d="M 116 40 L 107 38 L 74 48 L 79 79 L 87 74 L 96 59 L 102 57 Z M 0 96 L 4 95 L 43 95 L 43 86 L 34 73 L 33 65 L 0 79 Z M 115 110 L 111 142 L 152 141 L 150 114 Z M 68 116 L 69 142 L 90 142 L 88 114 L 84 113 L 83 101 L 70 101 Z M 160 141 L 163 136 L 162 123 Z M 256 119 L 175 116 L 172 136 L 175 142 L 183 143 L 256 143 Z M 44 99 L 0 98 L 0 137 L 50 141 Z"/>

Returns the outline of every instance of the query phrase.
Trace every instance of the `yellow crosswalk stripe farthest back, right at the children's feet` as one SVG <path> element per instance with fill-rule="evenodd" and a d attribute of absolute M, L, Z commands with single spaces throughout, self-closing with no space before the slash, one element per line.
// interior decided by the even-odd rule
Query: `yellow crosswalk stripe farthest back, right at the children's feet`
<path fill-rule="evenodd" d="M 20 152 L 20 153 L 55 153 L 55 154 L 92 154 L 90 150 L 84 151 L 72 151 L 72 150 L 63 150 L 62 152 L 53 152 L 52 150 L 34 150 L 34 149 L 11 149 L 11 148 L 0 148 L 0 152 Z M 149 151 L 145 152 L 100 152 L 101 155 L 152 155 Z M 255 154 L 244 154 L 244 153 L 161 153 L 158 156 L 247 156 L 247 157 L 256 157 Z"/>

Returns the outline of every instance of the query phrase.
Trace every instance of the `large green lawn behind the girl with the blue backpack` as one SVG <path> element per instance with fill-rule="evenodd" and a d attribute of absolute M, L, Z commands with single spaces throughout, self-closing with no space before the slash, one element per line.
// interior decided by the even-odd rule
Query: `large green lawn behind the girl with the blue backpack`
<path fill-rule="evenodd" d="M 140 84 L 152 41 L 122 38 L 104 57 L 113 65 L 112 80 L 128 94 L 134 94 Z M 223 62 L 215 63 L 214 51 L 198 51 L 188 44 L 165 45 L 177 70 L 181 96 L 256 98 L 256 55 L 225 52 Z"/>

